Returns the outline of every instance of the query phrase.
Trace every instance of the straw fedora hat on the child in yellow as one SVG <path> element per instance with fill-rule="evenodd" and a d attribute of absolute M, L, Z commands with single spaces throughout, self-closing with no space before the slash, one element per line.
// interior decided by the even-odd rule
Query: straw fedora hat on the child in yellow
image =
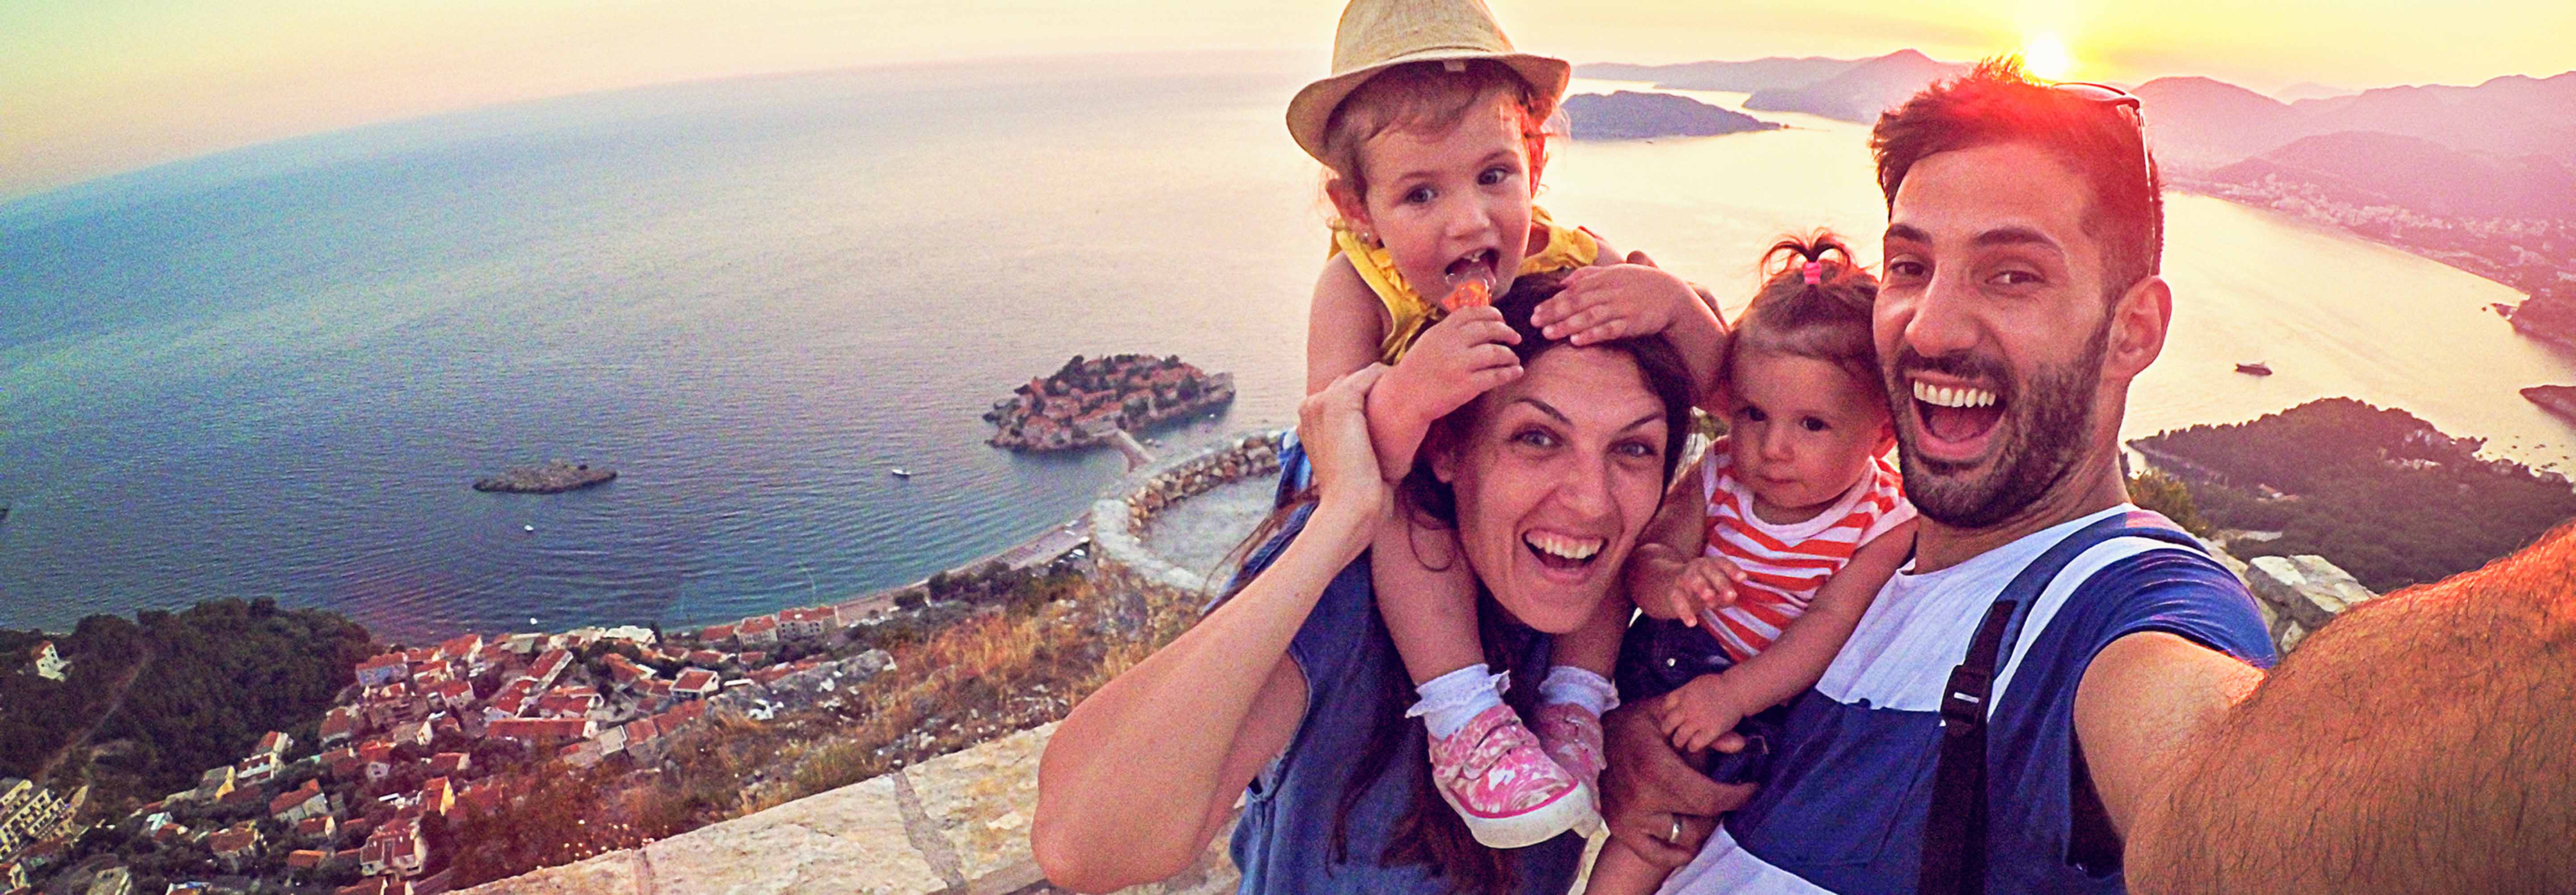
<path fill-rule="evenodd" d="M 1484 0 L 1350 0 L 1342 23 L 1332 28 L 1332 75 L 1288 101 L 1288 137 L 1324 157 L 1324 124 L 1370 75 L 1404 62 L 1494 59 L 1520 72 L 1530 90 L 1548 101 L 1566 93 L 1574 67 L 1566 59 L 1533 57 L 1512 49 L 1494 10 Z"/>

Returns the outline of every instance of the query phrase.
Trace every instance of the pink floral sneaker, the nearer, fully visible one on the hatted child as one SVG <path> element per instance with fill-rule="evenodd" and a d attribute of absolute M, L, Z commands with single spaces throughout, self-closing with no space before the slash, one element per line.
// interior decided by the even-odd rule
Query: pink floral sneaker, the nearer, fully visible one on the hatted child
<path fill-rule="evenodd" d="M 1512 707 L 1492 707 L 1432 738 L 1432 789 L 1486 849 L 1535 846 L 1600 825 L 1592 784 L 1566 774 Z"/>

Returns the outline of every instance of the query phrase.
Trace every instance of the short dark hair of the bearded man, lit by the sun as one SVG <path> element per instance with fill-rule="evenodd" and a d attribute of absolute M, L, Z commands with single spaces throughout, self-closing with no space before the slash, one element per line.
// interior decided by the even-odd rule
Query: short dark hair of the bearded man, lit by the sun
<path fill-rule="evenodd" d="M 1984 59 L 1968 75 L 1880 113 L 1870 129 L 1878 188 L 1893 211 L 1896 188 L 1914 162 L 1999 142 L 2040 147 L 2092 186 L 2084 232 L 2102 242 L 2105 299 L 2159 273 L 2164 181 L 2146 152 L 2146 134 L 2112 103 L 2030 80 L 2017 57 Z"/>

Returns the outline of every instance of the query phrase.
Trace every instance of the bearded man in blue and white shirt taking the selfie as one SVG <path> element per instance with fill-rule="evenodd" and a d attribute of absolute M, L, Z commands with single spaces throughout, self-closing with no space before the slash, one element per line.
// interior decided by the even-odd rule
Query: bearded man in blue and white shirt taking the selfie
<path fill-rule="evenodd" d="M 1953 696 L 2009 580 L 2069 534 L 2138 524 L 2117 433 L 2172 317 L 2161 186 L 2136 98 L 2030 83 L 2009 62 L 1888 111 L 1873 150 L 1888 199 L 1878 353 L 1924 518 L 1914 562 L 1793 704 L 1759 789 L 1692 774 L 1641 712 L 1613 714 L 1613 836 L 1680 867 L 1667 887 L 1682 892 L 1911 892 L 1927 856 L 1991 892 L 2576 885 L 2566 573 L 2543 598 L 2370 604 L 2264 684 L 2264 627 L 2213 560 L 2148 536 L 2074 544 L 2007 614 L 2020 624 L 1996 627 L 2014 634 L 1994 637 L 1991 694 Z M 2522 637 L 2460 637 L 2463 619 Z M 2501 696 L 2427 707 L 2372 686 L 2450 663 L 2483 678 L 2434 676 L 2447 694 Z M 1986 820 L 1927 854 L 1945 696 L 1984 725 L 1984 787 L 1960 789 L 1984 792 Z M 2476 740 L 2460 704 L 2522 727 Z M 2445 800 L 2465 782 L 2488 797 Z M 2298 802 L 2277 797 L 2290 789 Z M 1960 812 L 1929 823 L 1965 828 Z M 2532 843 L 2514 877 L 2460 869 L 2514 843 Z"/>

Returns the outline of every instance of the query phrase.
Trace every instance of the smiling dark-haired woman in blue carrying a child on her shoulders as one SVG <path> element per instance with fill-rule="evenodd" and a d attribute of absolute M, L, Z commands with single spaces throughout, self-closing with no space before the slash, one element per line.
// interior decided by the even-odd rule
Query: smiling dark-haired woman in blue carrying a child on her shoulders
<path fill-rule="evenodd" d="M 1492 665 L 1528 696 L 1548 634 L 1613 611 L 1613 583 L 1687 436 L 1690 374 L 1662 338 L 1566 346 L 1530 328 L 1553 281 L 1497 307 L 1522 377 L 1437 420 L 1388 487 L 1363 402 L 1381 366 L 1298 408 L 1314 503 L 1257 549 L 1188 634 L 1074 707 L 1038 766 L 1048 880 L 1105 892 L 1180 872 L 1247 797 L 1244 892 L 1564 892 L 1582 838 L 1486 851 L 1427 787 L 1409 678 L 1376 614 L 1368 539 L 1386 513 L 1455 526 Z M 1401 495 L 1396 493 L 1401 490 Z M 1623 606 L 1623 604 L 1620 604 Z M 1247 792 L 1249 789 L 1249 792 Z"/>

